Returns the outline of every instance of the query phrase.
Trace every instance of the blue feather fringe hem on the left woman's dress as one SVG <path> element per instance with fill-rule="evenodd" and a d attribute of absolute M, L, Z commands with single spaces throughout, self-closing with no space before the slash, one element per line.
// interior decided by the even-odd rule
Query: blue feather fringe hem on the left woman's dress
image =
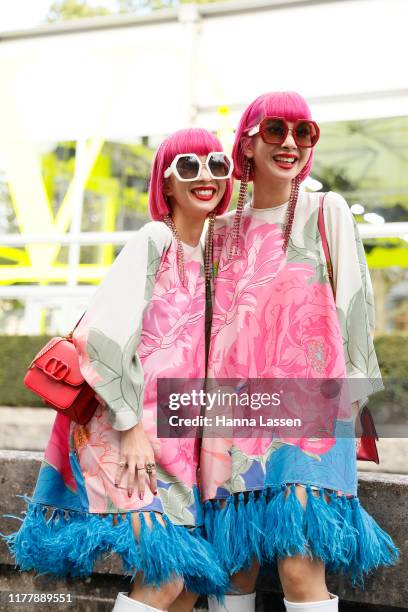
<path fill-rule="evenodd" d="M 35 570 L 59 578 L 86 577 L 106 553 L 117 553 L 132 579 L 142 572 L 145 584 L 159 587 L 182 578 L 187 589 L 223 600 L 229 577 L 212 546 L 201 537 L 200 528 L 174 525 L 165 514 L 163 526 L 154 512 L 150 512 L 149 527 L 145 513 L 139 512 L 141 529 L 136 540 L 130 512 L 122 518 L 119 514 L 101 517 L 55 509 L 47 519 L 47 506 L 25 499 L 25 518 L 12 517 L 22 521 L 20 529 L 10 535 L 0 534 L 22 571 Z"/>

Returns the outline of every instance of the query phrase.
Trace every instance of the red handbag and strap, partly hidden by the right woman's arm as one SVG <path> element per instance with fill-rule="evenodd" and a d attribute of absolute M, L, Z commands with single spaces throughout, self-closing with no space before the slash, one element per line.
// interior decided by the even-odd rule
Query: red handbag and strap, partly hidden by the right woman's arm
<path fill-rule="evenodd" d="M 318 213 L 318 228 L 322 238 L 322 246 L 324 255 L 326 258 L 327 273 L 329 275 L 330 284 L 333 290 L 334 299 L 336 299 L 336 290 L 334 287 L 333 280 L 333 266 L 330 257 L 329 245 L 326 237 L 326 230 L 324 227 L 323 219 L 323 204 L 324 196 L 326 194 L 319 194 L 319 213 Z M 378 457 L 378 450 L 376 440 L 378 440 L 377 431 L 374 425 L 373 415 L 367 406 L 364 406 L 360 412 L 360 423 L 361 423 L 361 438 L 357 440 L 356 453 L 359 461 L 373 461 L 374 463 L 380 463 Z"/>

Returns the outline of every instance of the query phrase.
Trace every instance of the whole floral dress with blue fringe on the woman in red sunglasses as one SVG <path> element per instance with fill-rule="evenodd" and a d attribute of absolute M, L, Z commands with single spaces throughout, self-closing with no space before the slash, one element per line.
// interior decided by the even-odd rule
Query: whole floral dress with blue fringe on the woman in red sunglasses
<path fill-rule="evenodd" d="M 336 298 L 318 230 L 319 194 L 301 192 L 287 254 L 287 203 L 246 205 L 239 255 L 228 259 L 234 211 L 215 226 L 215 285 L 208 361 L 212 379 L 351 378 L 351 402 L 383 388 L 373 345 L 374 303 L 364 248 L 345 200 L 329 192 L 324 223 Z M 358 379 L 358 380 L 356 380 Z M 360 506 L 350 410 L 333 437 L 204 437 L 200 457 L 206 534 L 235 573 L 311 555 L 362 582 L 398 550 Z M 303 509 L 295 495 L 303 485 Z M 226 503 L 220 503 L 226 500 Z"/>

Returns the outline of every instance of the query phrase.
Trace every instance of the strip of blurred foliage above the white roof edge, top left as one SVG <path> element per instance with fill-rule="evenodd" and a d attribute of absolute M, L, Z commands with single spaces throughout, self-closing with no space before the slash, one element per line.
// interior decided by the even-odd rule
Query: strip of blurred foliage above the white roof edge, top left
<path fill-rule="evenodd" d="M 228 0 L 115 0 L 104 3 L 103 0 L 100 0 L 96 4 L 89 3 L 87 0 L 56 0 L 48 11 L 47 21 L 55 23 L 69 19 L 103 17 L 117 13 L 145 14 L 158 9 L 175 8 L 180 4 L 209 4 L 226 1 Z"/>

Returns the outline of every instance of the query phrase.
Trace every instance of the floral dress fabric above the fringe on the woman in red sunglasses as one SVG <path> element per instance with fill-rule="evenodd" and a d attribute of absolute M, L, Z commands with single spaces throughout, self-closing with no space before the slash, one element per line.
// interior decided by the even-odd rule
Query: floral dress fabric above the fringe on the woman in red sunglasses
<path fill-rule="evenodd" d="M 301 193 L 291 240 L 282 251 L 287 203 L 247 205 L 239 255 L 228 259 L 235 211 L 215 228 L 216 271 L 208 377 L 354 378 L 349 404 L 363 406 L 383 388 L 373 345 L 374 301 L 364 248 L 345 200 L 330 192 L 324 222 L 336 298 L 318 231 L 319 195 Z M 204 437 L 204 499 L 290 482 L 355 495 L 351 413 L 338 415 L 335 437 Z"/>

